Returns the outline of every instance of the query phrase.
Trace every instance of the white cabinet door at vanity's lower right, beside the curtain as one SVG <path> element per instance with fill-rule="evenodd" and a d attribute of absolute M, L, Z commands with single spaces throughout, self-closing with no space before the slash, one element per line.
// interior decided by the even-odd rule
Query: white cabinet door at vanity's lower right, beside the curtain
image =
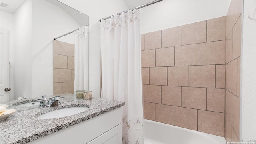
<path fill-rule="evenodd" d="M 122 124 L 108 130 L 88 144 L 122 144 Z"/>

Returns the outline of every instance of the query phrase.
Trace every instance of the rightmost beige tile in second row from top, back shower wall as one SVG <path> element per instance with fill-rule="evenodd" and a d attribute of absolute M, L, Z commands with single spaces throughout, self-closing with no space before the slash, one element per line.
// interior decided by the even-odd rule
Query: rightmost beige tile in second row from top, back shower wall
<path fill-rule="evenodd" d="M 198 44 L 198 65 L 225 64 L 226 41 Z"/>

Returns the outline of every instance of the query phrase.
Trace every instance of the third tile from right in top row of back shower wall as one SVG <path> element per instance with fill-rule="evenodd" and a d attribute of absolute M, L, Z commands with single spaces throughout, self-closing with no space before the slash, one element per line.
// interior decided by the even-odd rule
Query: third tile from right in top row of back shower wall
<path fill-rule="evenodd" d="M 162 48 L 181 46 L 181 26 L 162 30 Z"/>

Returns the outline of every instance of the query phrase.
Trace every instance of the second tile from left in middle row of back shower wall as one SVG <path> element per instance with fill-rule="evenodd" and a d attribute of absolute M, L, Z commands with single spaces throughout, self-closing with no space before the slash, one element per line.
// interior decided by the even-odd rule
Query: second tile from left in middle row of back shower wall
<path fill-rule="evenodd" d="M 167 86 L 167 67 L 149 68 L 149 83 Z"/>

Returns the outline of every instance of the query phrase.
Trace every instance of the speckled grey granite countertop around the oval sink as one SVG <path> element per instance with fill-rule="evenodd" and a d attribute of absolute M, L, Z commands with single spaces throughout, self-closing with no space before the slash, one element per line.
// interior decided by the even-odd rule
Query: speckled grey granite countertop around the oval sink
<path fill-rule="evenodd" d="M 89 107 L 89 109 L 84 112 L 63 118 L 36 118 L 36 116 L 52 110 L 74 106 L 86 106 Z M 78 99 L 70 102 L 63 102 L 57 107 L 38 107 L 15 112 L 6 120 L 0 121 L 0 144 L 26 144 L 121 106 L 124 106 L 124 102 L 93 98 L 92 100 Z"/>

